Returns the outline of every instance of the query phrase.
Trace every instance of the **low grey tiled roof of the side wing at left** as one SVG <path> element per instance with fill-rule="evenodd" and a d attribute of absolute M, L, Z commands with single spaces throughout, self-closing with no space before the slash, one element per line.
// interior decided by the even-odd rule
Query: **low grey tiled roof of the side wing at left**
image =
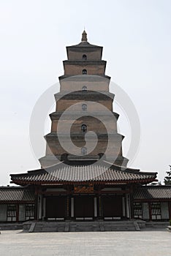
<path fill-rule="evenodd" d="M 34 192 L 23 187 L 0 187 L 0 202 L 34 202 Z"/>

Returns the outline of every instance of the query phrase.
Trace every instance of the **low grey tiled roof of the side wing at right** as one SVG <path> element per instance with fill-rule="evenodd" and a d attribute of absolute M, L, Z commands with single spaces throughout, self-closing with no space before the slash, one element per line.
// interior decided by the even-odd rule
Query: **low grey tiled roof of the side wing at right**
<path fill-rule="evenodd" d="M 143 186 L 134 190 L 134 200 L 171 199 L 171 186 Z"/>

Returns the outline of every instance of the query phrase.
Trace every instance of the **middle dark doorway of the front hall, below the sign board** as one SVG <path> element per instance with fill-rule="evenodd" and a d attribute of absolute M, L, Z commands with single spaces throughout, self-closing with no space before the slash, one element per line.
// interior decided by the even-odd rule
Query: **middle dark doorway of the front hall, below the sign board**
<path fill-rule="evenodd" d="M 75 218 L 93 219 L 94 218 L 94 197 L 75 196 Z"/>

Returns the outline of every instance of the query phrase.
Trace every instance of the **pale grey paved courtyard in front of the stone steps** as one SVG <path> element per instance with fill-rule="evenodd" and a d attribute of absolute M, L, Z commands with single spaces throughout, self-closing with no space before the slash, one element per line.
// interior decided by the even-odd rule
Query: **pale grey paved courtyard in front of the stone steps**
<path fill-rule="evenodd" d="M 1 256 L 171 255 L 171 233 L 162 231 L 104 233 L 23 233 L 1 231 Z"/>

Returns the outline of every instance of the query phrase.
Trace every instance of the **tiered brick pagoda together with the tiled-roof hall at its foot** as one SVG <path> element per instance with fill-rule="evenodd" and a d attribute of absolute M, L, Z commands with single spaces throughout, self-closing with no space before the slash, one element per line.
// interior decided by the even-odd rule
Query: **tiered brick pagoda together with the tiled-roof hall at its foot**
<path fill-rule="evenodd" d="M 127 167 L 102 49 L 86 31 L 78 45 L 66 47 L 41 168 L 11 175 L 34 192 L 34 219 L 131 219 L 134 189 L 156 179 Z"/>

